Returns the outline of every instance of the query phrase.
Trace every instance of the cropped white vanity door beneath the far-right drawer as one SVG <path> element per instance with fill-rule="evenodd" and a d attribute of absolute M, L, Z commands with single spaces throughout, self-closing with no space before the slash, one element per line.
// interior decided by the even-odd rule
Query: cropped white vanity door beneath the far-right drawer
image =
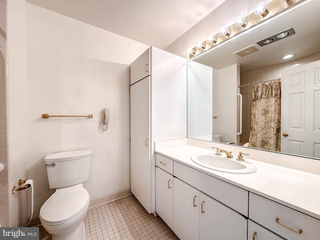
<path fill-rule="evenodd" d="M 263 226 L 248 220 L 248 240 L 285 240 Z"/>

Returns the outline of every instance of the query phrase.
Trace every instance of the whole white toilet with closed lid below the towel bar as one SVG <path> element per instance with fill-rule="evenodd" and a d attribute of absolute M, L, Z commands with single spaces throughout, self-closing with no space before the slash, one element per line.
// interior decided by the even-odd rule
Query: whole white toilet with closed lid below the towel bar
<path fill-rule="evenodd" d="M 52 240 L 85 239 L 83 218 L 90 197 L 82 182 L 89 177 L 91 155 L 91 149 L 83 149 L 44 157 L 49 187 L 55 192 L 41 206 L 39 218 Z"/>

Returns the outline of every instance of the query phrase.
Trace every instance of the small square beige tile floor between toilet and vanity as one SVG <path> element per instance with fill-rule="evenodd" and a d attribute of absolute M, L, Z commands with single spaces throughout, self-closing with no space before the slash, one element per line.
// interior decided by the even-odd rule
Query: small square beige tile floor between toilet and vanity
<path fill-rule="evenodd" d="M 85 240 L 179 240 L 160 218 L 147 213 L 133 196 L 88 209 L 83 220 Z M 42 226 L 39 239 L 51 240 Z"/>

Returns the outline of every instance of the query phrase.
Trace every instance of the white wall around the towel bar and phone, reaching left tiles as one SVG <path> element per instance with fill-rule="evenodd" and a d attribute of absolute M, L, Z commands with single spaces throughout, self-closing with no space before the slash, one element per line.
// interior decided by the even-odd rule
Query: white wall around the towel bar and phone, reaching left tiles
<path fill-rule="evenodd" d="M 9 25 L 12 46 L 18 47 L 9 52 L 16 76 L 9 77 L 11 184 L 33 179 L 36 216 L 52 193 L 43 157 L 91 148 L 84 183 L 91 199 L 129 188 L 129 63 L 148 46 L 24 0 L 10 4 L 8 18 L 21 25 L 17 30 Z M 107 131 L 100 128 L 104 107 L 110 109 Z M 93 114 L 93 119 L 42 119 L 42 113 Z M 24 224 L 25 210 L 14 209 L 26 207 L 10 205 L 11 226 Z"/>

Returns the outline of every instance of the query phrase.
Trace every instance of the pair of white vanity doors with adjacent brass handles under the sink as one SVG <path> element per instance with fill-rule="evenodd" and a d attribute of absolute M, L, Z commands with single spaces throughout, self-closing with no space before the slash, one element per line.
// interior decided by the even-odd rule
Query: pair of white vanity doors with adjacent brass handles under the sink
<path fill-rule="evenodd" d="M 173 231 L 180 239 L 246 240 L 241 214 L 176 177 L 173 184 Z"/>

